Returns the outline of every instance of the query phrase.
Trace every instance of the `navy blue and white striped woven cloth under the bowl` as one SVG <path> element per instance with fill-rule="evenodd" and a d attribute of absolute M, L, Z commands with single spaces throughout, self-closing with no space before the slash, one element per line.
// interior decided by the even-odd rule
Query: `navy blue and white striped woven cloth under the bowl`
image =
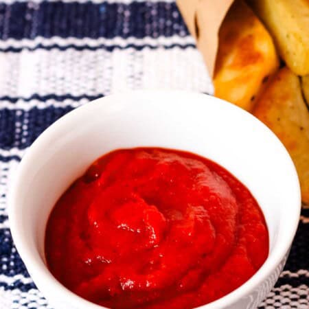
<path fill-rule="evenodd" d="M 174 1 L 0 0 L 0 309 L 50 308 L 10 236 L 8 186 L 24 152 L 73 108 L 144 88 L 212 92 Z M 304 210 L 263 308 L 309 308 L 308 241 Z"/>

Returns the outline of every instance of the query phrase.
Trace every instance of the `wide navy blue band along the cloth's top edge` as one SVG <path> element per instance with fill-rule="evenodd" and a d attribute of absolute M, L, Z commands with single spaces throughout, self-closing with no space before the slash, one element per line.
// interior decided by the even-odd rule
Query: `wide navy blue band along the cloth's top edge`
<path fill-rule="evenodd" d="M 0 3 L 0 39 L 187 36 L 176 3 Z"/>

